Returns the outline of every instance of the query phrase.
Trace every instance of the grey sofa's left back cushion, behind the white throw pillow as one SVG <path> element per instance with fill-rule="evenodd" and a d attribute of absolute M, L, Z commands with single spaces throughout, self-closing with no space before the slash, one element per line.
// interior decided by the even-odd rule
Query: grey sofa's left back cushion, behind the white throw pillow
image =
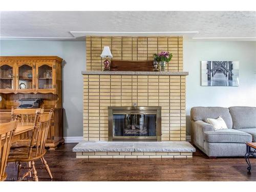
<path fill-rule="evenodd" d="M 221 116 L 228 128 L 232 128 L 232 118 L 228 108 L 221 108 L 219 106 L 195 106 L 191 108 L 190 118 L 191 120 L 205 120 L 206 118 L 217 119 Z"/>

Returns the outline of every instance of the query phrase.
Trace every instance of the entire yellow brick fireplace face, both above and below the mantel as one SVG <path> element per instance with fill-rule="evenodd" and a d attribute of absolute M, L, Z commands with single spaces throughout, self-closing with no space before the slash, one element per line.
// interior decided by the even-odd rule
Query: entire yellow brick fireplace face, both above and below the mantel
<path fill-rule="evenodd" d="M 83 71 L 83 139 L 108 141 L 108 106 L 161 106 L 161 140 L 185 141 L 185 76 L 182 36 L 89 36 L 87 71 Z M 103 72 L 100 53 L 109 46 L 114 59 L 153 60 L 169 51 L 166 72 Z"/>

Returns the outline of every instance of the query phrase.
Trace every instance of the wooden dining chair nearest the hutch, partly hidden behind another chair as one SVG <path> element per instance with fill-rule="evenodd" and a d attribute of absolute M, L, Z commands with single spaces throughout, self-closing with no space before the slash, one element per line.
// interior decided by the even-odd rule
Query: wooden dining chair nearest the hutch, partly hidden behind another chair
<path fill-rule="evenodd" d="M 19 122 L 28 122 L 28 123 L 34 123 L 35 116 L 37 113 L 44 114 L 45 106 L 43 105 L 42 108 L 34 108 L 34 109 L 14 109 L 14 106 L 12 106 L 11 110 L 11 118 L 12 120 L 15 119 L 15 117 L 18 115 Z M 31 137 L 32 137 L 32 131 L 26 132 L 24 134 L 20 134 L 17 136 L 19 138 L 15 138 L 15 141 L 12 142 L 11 148 L 17 148 L 17 147 L 29 147 Z"/>

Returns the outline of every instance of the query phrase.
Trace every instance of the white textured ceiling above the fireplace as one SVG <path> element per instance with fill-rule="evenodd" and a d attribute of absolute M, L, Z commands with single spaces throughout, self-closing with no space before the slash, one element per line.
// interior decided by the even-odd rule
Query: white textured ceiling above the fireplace
<path fill-rule="evenodd" d="M 256 37 L 256 12 L 247 11 L 1 12 L 0 22 L 0 36 L 11 38 L 75 39 L 74 36 L 97 35 L 72 31 L 156 32 L 156 35 L 157 32 L 198 32 L 180 33 L 188 38 Z"/>

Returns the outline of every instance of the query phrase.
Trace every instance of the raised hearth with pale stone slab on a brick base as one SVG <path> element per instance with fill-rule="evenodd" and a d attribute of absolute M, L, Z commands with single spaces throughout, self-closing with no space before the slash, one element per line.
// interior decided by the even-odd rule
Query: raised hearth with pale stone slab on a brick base
<path fill-rule="evenodd" d="M 196 149 L 186 141 L 120 142 L 83 141 L 73 152 L 77 158 L 192 158 Z"/>

